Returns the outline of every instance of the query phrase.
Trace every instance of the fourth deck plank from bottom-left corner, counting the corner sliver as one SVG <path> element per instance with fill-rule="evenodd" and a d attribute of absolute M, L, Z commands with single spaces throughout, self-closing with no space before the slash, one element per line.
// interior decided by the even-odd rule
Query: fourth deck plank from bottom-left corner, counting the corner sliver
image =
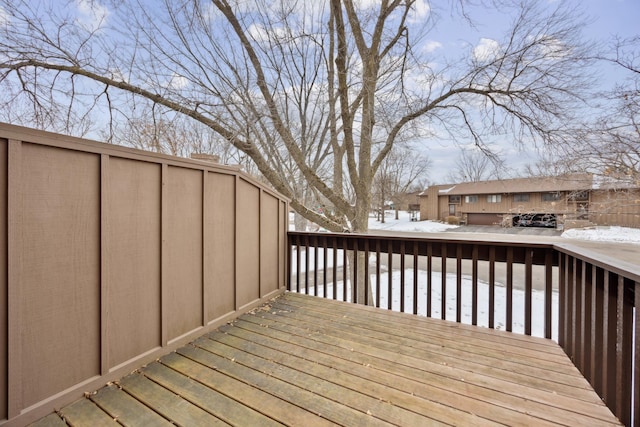
<path fill-rule="evenodd" d="M 184 426 L 228 425 L 139 373 L 125 377 L 120 385 L 124 391 L 153 408 L 165 418 L 173 420 L 176 424 Z"/>

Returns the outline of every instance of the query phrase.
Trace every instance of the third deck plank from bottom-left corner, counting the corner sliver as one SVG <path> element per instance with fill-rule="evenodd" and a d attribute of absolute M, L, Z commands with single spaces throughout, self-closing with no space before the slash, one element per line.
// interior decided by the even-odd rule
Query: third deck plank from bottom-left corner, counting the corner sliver
<path fill-rule="evenodd" d="M 143 405 L 115 385 L 102 387 L 89 398 L 125 426 L 172 426 L 157 412 Z"/>

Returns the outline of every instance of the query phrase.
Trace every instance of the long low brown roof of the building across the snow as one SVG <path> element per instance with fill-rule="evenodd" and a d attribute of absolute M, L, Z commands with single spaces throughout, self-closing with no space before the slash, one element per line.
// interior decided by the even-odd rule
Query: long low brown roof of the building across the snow
<path fill-rule="evenodd" d="M 446 184 L 438 187 L 440 187 L 439 193 L 443 195 L 580 191 L 593 188 L 593 176 L 591 174 L 573 174 L 558 177 L 500 179 Z"/>

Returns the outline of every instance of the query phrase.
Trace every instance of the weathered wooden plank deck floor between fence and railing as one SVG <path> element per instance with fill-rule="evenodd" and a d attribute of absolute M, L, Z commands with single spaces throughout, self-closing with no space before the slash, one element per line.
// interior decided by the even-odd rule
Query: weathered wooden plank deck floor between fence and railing
<path fill-rule="evenodd" d="M 619 425 L 552 341 L 286 294 L 36 425 Z"/>

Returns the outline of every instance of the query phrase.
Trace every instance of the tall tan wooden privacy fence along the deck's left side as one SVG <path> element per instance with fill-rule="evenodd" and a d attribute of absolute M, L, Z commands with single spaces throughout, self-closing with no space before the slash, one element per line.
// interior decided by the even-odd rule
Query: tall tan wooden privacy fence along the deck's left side
<path fill-rule="evenodd" d="M 287 226 L 238 168 L 0 124 L 0 424 L 282 292 Z"/>

